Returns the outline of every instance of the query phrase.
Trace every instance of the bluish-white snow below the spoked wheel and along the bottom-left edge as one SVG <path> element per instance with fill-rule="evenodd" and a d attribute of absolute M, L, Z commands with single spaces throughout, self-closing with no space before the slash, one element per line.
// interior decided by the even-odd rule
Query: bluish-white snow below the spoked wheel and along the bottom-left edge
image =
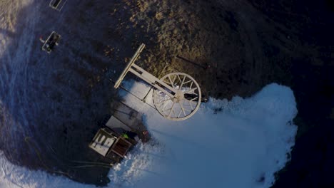
<path fill-rule="evenodd" d="M 148 85 L 123 81 L 143 98 Z M 144 114 L 153 140 L 138 144 L 111 169 L 108 187 L 270 187 L 288 161 L 297 114 L 290 88 L 265 86 L 251 98 L 210 98 L 188 120 L 163 118 L 151 103 L 120 90 L 124 102 Z M 93 187 L 65 177 L 29 171 L 0 153 L 0 187 Z"/>

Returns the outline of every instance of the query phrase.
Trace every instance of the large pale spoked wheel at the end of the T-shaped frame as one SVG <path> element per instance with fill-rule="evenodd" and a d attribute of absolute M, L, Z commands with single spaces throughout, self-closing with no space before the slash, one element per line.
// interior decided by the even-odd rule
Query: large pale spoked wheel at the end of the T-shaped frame
<path fill-rule="evenodd" d="M 185 73 L 169 73 L 160 80 L 176 91 L 164 88 L 168 93 L 173 93 L 173 98 L 161 90 L 153 91 L 153 103 L 163 117 L 178 121 L 196 113 L 201 105 L 201 89 L 196 80 Z"/>

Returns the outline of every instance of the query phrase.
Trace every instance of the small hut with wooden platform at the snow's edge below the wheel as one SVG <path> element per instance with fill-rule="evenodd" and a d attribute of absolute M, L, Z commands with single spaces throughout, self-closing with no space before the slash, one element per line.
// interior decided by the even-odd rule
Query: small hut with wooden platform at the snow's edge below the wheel
<path fill-rule="evenodd" d="M 103 157 L 111 160 L 124 157 L 139 140 L 149 140 L 148 131 L 141 123 L 141 113 L 123 103 L 117 103 L 113 115 L 98 130 L 89 147 Z"/>

